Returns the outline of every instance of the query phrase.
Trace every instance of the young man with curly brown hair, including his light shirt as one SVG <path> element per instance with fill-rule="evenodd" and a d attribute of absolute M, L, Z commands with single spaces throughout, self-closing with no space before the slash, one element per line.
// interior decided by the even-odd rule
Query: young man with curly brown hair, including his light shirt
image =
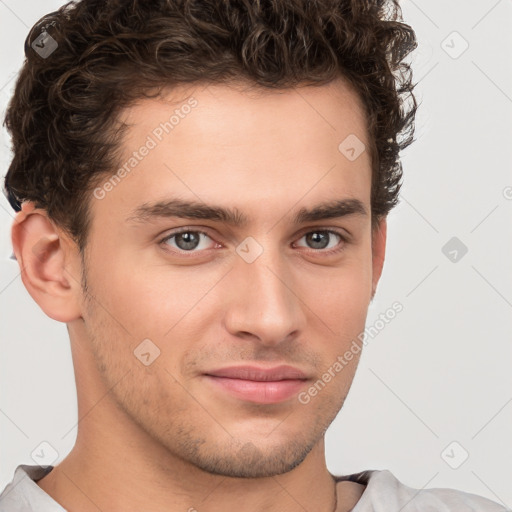
<path fill-rule="evenodd" d="M 84 0 L 32 30 L 5 190 L 79 424 L 1 511 L 504 510 L 325 464 L 416 110 L 380 4 Z"/>

